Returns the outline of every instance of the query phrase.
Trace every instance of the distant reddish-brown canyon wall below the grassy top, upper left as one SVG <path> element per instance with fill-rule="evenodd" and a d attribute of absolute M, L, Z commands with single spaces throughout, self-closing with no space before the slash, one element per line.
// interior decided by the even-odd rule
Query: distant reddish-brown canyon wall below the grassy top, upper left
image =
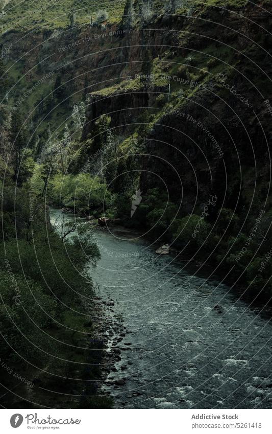
<path fill-rule="evenodd" d="M 30 35 L 11 31 L 2 37 L 2 43 L 3 47 L 11 47 L 4 59 L 11 79 L 8 93 L 10 105 L 19 107 L 27 123 L 30 122 L 31 113 L 37 124 L 41 122 L 40 131 L 47 128 L 48 122 L 52 129 L 57 127 L 60 111 L 63 117 L 66 111 L 67 118 L 74 103 L 100 89 L 109 89 L 109 99 L 99 103 L 99 97 L 91 96 L 95 107 L 87 107 L 87 115 L 92 116 L 92 110 L 100 115 L 104 103 L 115 111 L 113 99 L 118 84 L 135 78 L 141 68 L 142 32 L 136 29 L 120 30 L 118 25 L 107 25 L 106 28 L 83 25 L 75 29 L 43 29 Z M 58 77 L 61 77 L 59 99 L 69 99 L 65 110 L 60 109 L 54 92 Z M 39 101 L 44 97 L 45 101 L 55 99 L 52 112 L 51 107 L 39 107 Z M 135 94 L 131 95 L 130 101 L 124 98 L 116 106 L 145 106 L 146 99 L 146 95 Z M 128 114 L 125 117 L 120 115 L 119 120 L 117 115 L 113 114 L 112 117 L 115 124 L 127 122 L 131 118 Z"/>

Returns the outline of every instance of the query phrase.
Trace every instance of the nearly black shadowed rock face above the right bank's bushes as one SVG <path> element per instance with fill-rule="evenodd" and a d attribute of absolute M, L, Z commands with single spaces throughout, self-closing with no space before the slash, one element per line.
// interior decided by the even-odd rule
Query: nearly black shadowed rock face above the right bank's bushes
<path fill-rule="evenodd" d="M 233 208 L 244 194 L 241 187 L 250 195 L 262 188 L 265 174 L 269 179 L 267 138 L 260 124 L 252 124 L 253 113 L 238 118 L 213 95 L 199 101 L 201 105 L 187 102 L 178 110 L 181 114 L 165 115 L 154 125 L 146 146 L 151 156 L 142 164 L 141 190 L 156 186 L 152 168 L 165 180 L 173 201 L 183 192 L 185 214 L 212 192 L 218 208 L 222 203 Z M 267 116 L 259 120 L 269 125 Z"/>

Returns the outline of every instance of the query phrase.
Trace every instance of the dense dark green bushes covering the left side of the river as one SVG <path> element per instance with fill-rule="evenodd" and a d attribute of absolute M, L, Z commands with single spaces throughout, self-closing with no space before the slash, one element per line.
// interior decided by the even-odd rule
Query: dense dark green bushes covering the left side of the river
<path fill-rule="evenodd" d="M 36 194 L 30 189 L 30 184 L 16 188 L 11 179 L 6 180 L 2 190 L 0 357 L 5 360 L 9 372 L 20 372 L 32 381 L 37 375 L 39 378 L 43 375 L 40 372 L 53 372 L 52 384 L 44 383 L 45 386 L 61 387 L 69 394 L 70 382 L 63 378 L 57 385 L 58 376 L 80 378 L 85 362 L 94 366 L 89 377 L 99 375 L 96 363 L 101 354 L 95 352 L 95 357 L 90 358 L 88 348 L 86 351 L 78 349 L 86 347 L 86 333 L 92 333 L 86 305 L 91 306 L 94 293 L 87 264 L 89 261 L 95 263 L 99 252 L 88 228 L 86 232 L 78 226 L 76 232 L 65 237 L 66 229 L 61 230 L 63 222 L 60 221 L 61 229 L 57 225 L 56 231 L 49 223 L 44 198 L 39 196 L 40 189 L 37 191 Z M 31 200 L 34 200 L 35 209 L 33 219 L 30 219 Z M 38 374 L 35 367 L 41 370 Z M 2 383 L 5 372 L 0 373 Z M 43 378 L 43 381 L 46 380 Z M 80 385 L 77 393 L 81 392 Z M 45 399 L 47 395 L 43 391 L 41 400 Z M 111 405 L 109 399 L 101 400 L 100 397 L 92 397 L 90 401 L 86 397 L 84 402 L 86 406 Z M 55 405 L 66 407 L 71 402 L 66 399 Z M 72 405 L 77 404 L 73 402 Z"/>

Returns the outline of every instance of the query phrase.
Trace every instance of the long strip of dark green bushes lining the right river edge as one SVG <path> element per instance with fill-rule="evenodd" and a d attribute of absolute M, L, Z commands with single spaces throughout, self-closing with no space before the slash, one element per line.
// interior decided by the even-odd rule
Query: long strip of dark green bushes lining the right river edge
<path fill-rule="evenodd" d="M 66 211 L 67 209 L 63 210 Z M 72 213 L 72 210 L 70 210 L 70 213 Z M 94 216 L 86 217 L 81 214 L 77 214 L 77 216 L 86 218 L 95 230 L 103 230 L 104 228 L 104 230 L 112 234 L 120 234 L 123 239 L 144 239 L 149 243 L 149 247 L 155 251 L 162 245 L 167 244 L 169 246 L 169 255 L 180 261 L 183 267 L 186 264 L 189 272 L 197 273 L 197 275 L 203 277 L 209 275 L 212 279 L 220 280 L 221 283 L 230 286 L 238 297 L 244 298 L 248 303 L 272 303 L 269 280 L 266 281 L 260 269 L 256 268 L 255 263 L 258 262 L 258 258 L 254 261 L 248 260 L 247 263 L 242 265 L 233 260 L 231 246 L 226 245 L 226 252 L 219 252 L 215 250 L 215 245 L 210 250 L 207 249 L 204 242 L 201 247 L 195 246 L 195 248 L 192 248 L 191 246 L 188 250 L 187 247 L 191 245 L 195 233 L 189 236 L 189 241 L 186 243 L 181 240 L 173 242 L 172 239 L 166 236 L 158 240 L 146 228 L 143 228 L 142 231 L 135 230 L 134 227 L 124 225 L 124 221 L 120 219 L 117 219 L 118 221 L 116 219 L 100 221 L 103 219 Z M 208 243 L 207 240 L 206 242 Z M 249 270 L 250 272 L 248 272 Z"/>

